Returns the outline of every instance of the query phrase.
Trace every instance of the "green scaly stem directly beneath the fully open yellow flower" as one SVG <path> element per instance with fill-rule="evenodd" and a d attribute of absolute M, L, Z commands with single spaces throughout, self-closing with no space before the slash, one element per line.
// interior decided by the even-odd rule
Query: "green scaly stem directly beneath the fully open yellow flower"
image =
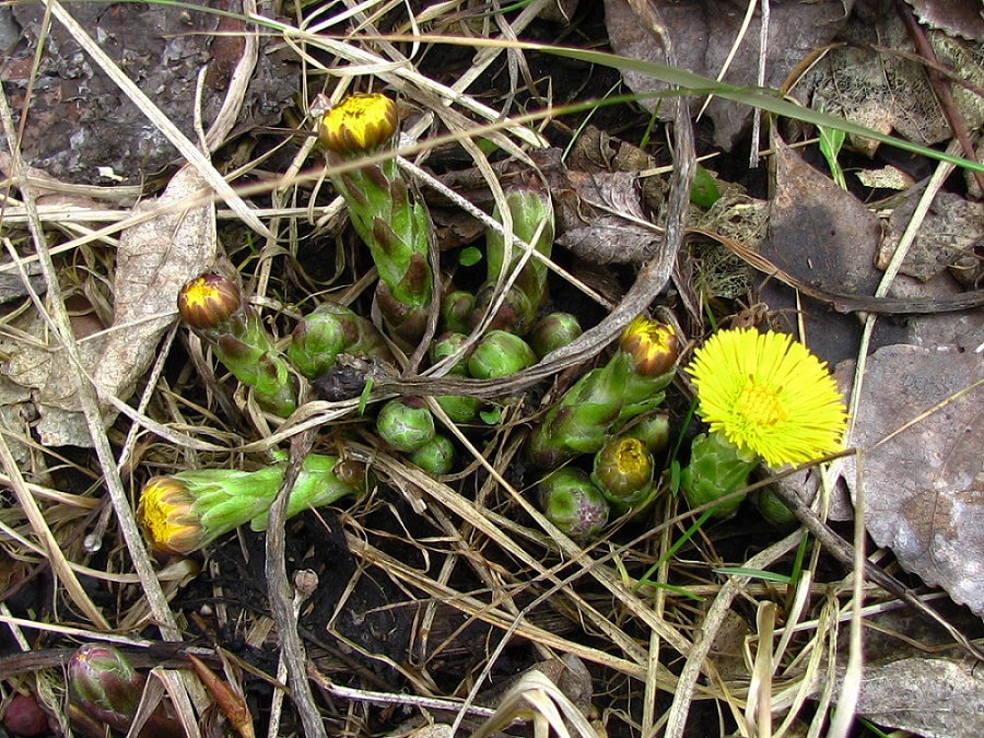
<path fill-rule="evenodd" d="M 748 487 L 748 476 L 758 465 L 758 457 L 739 450 L 718 433 L 701 433 L 691 446 L 690 466 L 680 475 L 680 490 L 691 507 Z M 730 517 L 741 505 L 743 495 L 723 502 L 711 511 L 712 517 Z"/>

